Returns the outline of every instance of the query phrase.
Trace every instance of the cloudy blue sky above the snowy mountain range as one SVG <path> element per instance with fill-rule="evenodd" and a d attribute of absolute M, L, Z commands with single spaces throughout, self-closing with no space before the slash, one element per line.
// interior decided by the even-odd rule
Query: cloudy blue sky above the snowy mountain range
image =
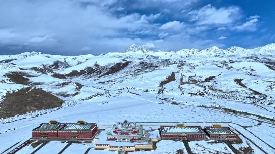
<path fill-rule="evenodd" d="M 0 54 L 177 51 L 275 42 L 275 1 L 0 0 Z"/>

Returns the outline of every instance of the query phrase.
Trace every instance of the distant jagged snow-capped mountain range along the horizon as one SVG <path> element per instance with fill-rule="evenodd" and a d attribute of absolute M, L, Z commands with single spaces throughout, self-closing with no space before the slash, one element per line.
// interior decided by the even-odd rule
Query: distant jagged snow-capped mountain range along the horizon
<path fill-rule="evenodd" d="M 124 52 L 108 52 L 106 54 L 100 54 L 98 56 L 115 56 L 115 55 L 136 55 L 136 56 L 145 56 L 145 55 L 155 55 L 157 53 L 169 53 L 169 54 L 176 54 L 180 56 L 190 56 L 190 55 L 202 55 L 202 56 L 253 56 L 253 55 L 274 55 L 275 54 L 275 43 L 270 43 L 265 46 L 256 47 L 253 49 L 245 49 L 242 47 L 237 46 L 231 46 L 227 49 L 221 49 L 217 46 L 209 47 L 206 49 L 181 49 L 178 51 L 152 51 L 149 50 L 145 45 L 136 45 L 133 44 L 129 46 Z M 18 56 L 34 56 L 34 55 L 44 55 L 44 56 L 50 56 L 51 54 L 44 54 L 42 52 L 23 52 L 21 54 L 16 54 Z M 87 54 L 87 56 L 95 56 L 93 54 Z M 15 55 L 1 55 L 1 56 L 15 56 Z M 0 56 L 0 57 L 1 57 Z M 54 56 L 54 55 L 51 55 Z M 61 55 L 57 55 L 61 56 Z M 85 56 L 85 55 L 77 55 L 77 56 Z M 72 57 L 77 57 L 72 56 Z M 68 57 L 68 56 L 67 56 Z"/>

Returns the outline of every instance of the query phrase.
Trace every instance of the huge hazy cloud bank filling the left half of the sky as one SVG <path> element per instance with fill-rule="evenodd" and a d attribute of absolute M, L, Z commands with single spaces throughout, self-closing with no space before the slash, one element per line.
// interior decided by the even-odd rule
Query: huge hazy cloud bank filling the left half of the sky
<path fill-rule="evenodd" d="M 26 0 L 0 2 L 0 14 L 5 14 L 0 16 L 0 49 L 24 47 L 21 51 L 75 52 L 84 51 L 84 47 L 88 46 L 100 53 L 116 49 L 115 38 L 129 38 L 128 34 L 150 34 L 152 29 L 157 29 L 151 22 L 161 13 L 117 16 L 109 8 L 116 1 L 96 1 L 82 0 L 85 6 L 79 1 L 68 0 L 43 1 L 43 5 L 40 1 L 29 3 Z M 129 42 L 133 43 L 131 40 Z M 126 46 L 119 47 L 124 49 Z"/>

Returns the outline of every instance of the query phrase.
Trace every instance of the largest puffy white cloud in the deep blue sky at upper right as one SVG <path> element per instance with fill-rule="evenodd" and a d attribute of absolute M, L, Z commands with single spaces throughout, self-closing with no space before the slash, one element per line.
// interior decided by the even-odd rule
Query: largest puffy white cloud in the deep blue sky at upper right
<path fill-rule="evenodd" d="M 209 4 L 188 14 L 191 16 L 191 21 L 195 21 L 198 25 L 231 24 L 240 17 L 240 9 L 236 6 L 217 9 Z"/>

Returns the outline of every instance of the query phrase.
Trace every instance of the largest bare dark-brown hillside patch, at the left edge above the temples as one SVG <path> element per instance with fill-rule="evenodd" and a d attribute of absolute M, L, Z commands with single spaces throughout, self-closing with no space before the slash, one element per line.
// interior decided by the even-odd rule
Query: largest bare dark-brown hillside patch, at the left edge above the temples
<path fill-rule="evenodd" d="M 23 88 L 16 92 L 7 93 L 4 101 L 0 103 L 0 118 L 59 107 L 63 102 L 63 100 L 42 89 Z"/>

